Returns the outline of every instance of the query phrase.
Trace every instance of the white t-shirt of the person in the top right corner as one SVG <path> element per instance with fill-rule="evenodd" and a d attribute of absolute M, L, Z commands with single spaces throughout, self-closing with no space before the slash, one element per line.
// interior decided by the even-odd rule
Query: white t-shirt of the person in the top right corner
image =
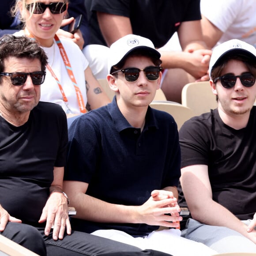
<path fill-rule="evenodd" d="M 223 32 L 218 44 L 239 39 L 256 46 L 255 0 L 201 0 L 201 13 Z"/>

